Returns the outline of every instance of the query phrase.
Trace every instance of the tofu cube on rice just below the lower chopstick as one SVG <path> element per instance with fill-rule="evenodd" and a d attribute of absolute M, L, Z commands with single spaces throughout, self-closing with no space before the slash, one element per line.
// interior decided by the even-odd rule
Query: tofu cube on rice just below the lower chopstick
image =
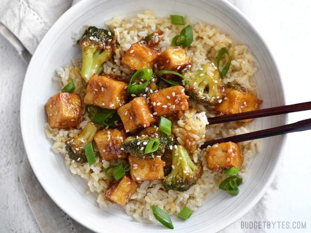
<path fill-rule="evenodd" d="M 238 144 L 225 142 L 215 144 L 204 152 L 207 168 L 221 171 L 226 168 L 238 167 L 242 169 L 243 154 Z"/>

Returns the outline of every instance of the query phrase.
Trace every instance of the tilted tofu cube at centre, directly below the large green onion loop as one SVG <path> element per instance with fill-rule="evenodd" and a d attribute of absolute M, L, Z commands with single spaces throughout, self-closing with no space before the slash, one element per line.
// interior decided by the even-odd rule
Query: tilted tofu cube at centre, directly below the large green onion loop
<path fill-rule="evenodd" d="M 124 125 L 125 132 L 134 132 L 138 128 L 149 127 L 156 121 L 152 115 L 147 100 L 143 97 L 134 98 L 118 109 L 118 114 Z"/>

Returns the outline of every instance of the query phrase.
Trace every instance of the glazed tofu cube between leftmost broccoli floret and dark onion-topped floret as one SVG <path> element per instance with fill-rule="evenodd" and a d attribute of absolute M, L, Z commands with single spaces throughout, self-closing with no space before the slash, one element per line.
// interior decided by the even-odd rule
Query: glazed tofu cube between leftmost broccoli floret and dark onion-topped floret
<path fill-rule="evenodd" d="M 120 150 L 121 144 L 125 137 L 125 132 L 118 129 L 98 131 L 94 136 L 94 140 L 102 156 L 102 159 L 110 161 L 113 159 L 126 158 L 127 153 Z"/>

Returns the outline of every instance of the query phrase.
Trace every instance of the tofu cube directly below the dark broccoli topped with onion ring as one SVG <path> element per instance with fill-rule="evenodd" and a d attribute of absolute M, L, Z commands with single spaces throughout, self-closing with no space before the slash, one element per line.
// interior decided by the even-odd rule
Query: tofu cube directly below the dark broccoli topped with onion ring
<path fill-rule="evenodd" d="M 138 159 L 135 156 L 129 156 L 130 172 L 133 181 L 162 180 L 164 178 L 165 163 L 160 157 L 154 159 Z"/>

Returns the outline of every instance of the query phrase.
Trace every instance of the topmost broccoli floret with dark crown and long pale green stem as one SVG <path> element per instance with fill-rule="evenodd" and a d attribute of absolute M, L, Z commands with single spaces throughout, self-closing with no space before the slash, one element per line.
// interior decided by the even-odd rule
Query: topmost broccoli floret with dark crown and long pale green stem
<path fill-rule="evenodd" d="M 79 43 L 82 49 L 80 74 L 87 82 L 93 74 L 103 71 L 103 63 L 111 58 L 118 42 L 112 32 L 92 26 L 86 30 Z"/>

